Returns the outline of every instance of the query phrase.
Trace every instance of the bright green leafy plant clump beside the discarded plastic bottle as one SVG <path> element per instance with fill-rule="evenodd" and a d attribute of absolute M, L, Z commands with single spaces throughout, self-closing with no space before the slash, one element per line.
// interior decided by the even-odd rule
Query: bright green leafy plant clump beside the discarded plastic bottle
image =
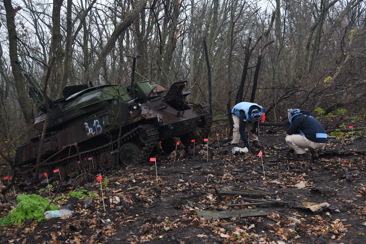
<path fill-rule="evenodd" d="M 50 202 L 49 199 L 44 199 L 40 195 L 20 194 L 16 197 L 18 205 L 12 210 L 7 217 L 0 218 L 0 225 L 19 225 L 23 221 L 36 218 L 36 222 L 45 219 L 44 212 Z M 51 203 L 48 210 L 57 210 L 58 207 Z"/>

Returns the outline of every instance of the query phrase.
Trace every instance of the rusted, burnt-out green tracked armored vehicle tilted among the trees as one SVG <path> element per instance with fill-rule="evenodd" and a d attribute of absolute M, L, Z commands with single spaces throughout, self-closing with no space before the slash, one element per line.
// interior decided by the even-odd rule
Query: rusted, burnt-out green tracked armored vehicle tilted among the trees
<path fill-rule="evenodd" d="M 42 88 L 29 73 L 29 96 L 38 108 L 36 136 L 16 150 L 15 165 L 25 172 L 36 165 L 46 120 Z M 40 174 L 71 178 L 79 174 L 149 161 L 161 148 L 171 153 L 180 138 L 186 147 L 200 143 L 212 125 L 207 102 L 186 101 L 186 81 L 165 91 L 149 82 L 121 85 L 68 86 L 64 98 L 49 101 L 51 115 L 42 146 Z M 33 171 L 34 172 L 34 171 Z M 57 173 L 54 173 L 57 172 Z"/>

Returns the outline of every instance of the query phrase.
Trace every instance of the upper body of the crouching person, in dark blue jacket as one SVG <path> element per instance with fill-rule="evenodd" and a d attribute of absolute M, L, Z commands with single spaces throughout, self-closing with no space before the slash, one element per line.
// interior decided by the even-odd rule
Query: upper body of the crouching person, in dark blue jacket
<path fill-rule="evenodd" d="M 286 123 L 286 132 L 289 135 L 301 134 L 305 135 L 308 140 L 318 143 L 326 143 L 327 136 L 324 128 L 319 121 L 311 116 L 306 110 L 291 117 L 291 123 Z"/>

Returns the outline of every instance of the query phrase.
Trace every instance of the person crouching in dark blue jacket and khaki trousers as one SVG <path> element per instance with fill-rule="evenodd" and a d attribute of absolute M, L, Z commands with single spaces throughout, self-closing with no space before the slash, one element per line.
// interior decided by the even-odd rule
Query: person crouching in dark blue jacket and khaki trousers
<path fill-rule="evenodd" d="M 287 144 L 301 156 L 297 161 L 319 159 L 317 149 L 324 149 L 327 136 L 319 121 L 306 110 L 292 109 L 286 123 Z M 311 155 L 305 150 L 309 149 Z"/>

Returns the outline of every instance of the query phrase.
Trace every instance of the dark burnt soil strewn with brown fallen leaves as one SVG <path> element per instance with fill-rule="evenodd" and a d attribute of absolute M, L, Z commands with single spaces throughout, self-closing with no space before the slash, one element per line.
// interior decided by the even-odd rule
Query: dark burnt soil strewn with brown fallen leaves
<path fill-rule="evenodd" d="M 323 121 L 324 127 L 326 123 L 334 125 L 335 122 Z M 352 123 L 365 126 L 357 121 Z M 101 172 L 102 184 L 108 179 L 103 192 L 95 176 L 86 183 L 75 180 L 57 196 L 67 196 L 68 192 L 83 188 L 98 197 L 89 204 L 84 204 L 85 199 L 59 200 L 55 202 L 59 206 L 72 203 L 75 213 L 32 222 L 23 226 L 17 236 L 14 233 L 22 225 L 2 226 L 0 240 L 50 244 L 366 243 L 366 138 L 361 132 L 355 133 L 361 135 L 357 139 L 349 134 L 329 138 L 320 159 L 298 162 L 294 160 L 295 155 L 288 153 L 290 148 L 283 130 L 271 134 L 261 132 L 259 140 L 265 148 L 251 148 L 249 153 L 233 155 L 227 144 L 230 140 L 221 140 L 222 135 L 226 137 L 225 127 L 212 128 L 213 135 L 220 133 L 221 146 L 214 149 L 217 137 L 212 135 L 208 158 L 207 147 L 203 148 L 202 155 L 195 157 L 162 152 L 157 156 L 157 168 L 151 163 Z M 262 157 L 258 156 L 260 151 Z M 217 194 L 215 188 L 219 192 L 229 191 L 228 195 Z M 39 189 L 30 189 L 16 188 L 16 191 L 39 194 Z M 257 193 L 249 195 L 253 192 L 249 189 Z M 54 196 L 56 188 L 51 190 Z M 235 190 L 244 193 L 230 194 Z M 48 192 L 43 195 L 49 197 Z M 110 203 L 113 196 L 118 196 L 120 202 Z M 270 205 L 265 205 L 268 202 Z M 304 207 L 309 202 L 325 202 L 329 206 L 313 212 Z M 225 206 L 243 203 L 252 204 Z M 262 216 L 243 217 L 247 209 L 262 210 Z M 205 218 L 198 217 L 203 210 L 212 212 Z M 223 210 L 235 211 L 225 218 L 212 218 Z M 1 213 L 1 217 L 6 215 L 7 211 Z"/>

